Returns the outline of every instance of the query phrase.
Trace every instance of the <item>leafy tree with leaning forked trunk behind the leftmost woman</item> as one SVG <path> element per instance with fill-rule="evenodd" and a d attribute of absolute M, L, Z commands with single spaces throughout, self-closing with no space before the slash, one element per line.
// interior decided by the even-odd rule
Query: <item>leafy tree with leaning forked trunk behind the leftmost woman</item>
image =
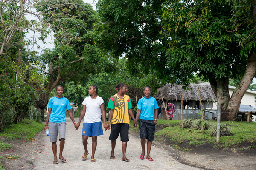
<path fill-rule="evenodd" d="M 41 61 L 41 72 L 45 75 L 36 102 L 44 119 L 44 108 L 55 86 L 67 80 L 80 81 L 101 71 L 106 55 L 93 41 L 93 24 L 99 20 L 90 4 L 82 0 L 49 0 L 38 1 L 36 8 L 55 36 L 54 48 L 45 49 L 41 56 L 31 59 Z"/>

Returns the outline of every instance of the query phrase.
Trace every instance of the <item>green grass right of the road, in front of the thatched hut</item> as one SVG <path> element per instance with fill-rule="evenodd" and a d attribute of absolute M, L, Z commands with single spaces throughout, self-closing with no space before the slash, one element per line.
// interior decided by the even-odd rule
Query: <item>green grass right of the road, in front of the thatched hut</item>
<path fill-rule="evenodd" d="M 212 144 L 214 147 L 221 149 L 228 149 L 232 147 L 243 149 L 244 146 L 241 146 L 242 142 L 251 143 L 248 149 L 256 148 L 256 122 L 232 122 L 224 121 L 221 124 L 225 125 L 226 123 L 233 125 L 228 126 L 233 133 L 231 136 L 222 136 L 220 137 L 219 142 L 216 142 L 216 137 L 210 136 L 210 129 L 204 130 L 204 133 L 201 133 L 201 130 L 195 130 L 192 128 L 182 130 L 180 120 L 171 120 L 171 125 L 162 130 L 158 130 L 155 133 L 155 140 L 163 142 L 169 140 L 169 142 L 175 143 L 173 146 L 187 142 L 187 147 L 190 146 L 200 146 L 201 144 L 208 143 Z M 157 120 L 157 124 L 166 124 L 168 120 Z M 209 121 L 209 123 L 214 126 L 217 124 L 217 121 Z M 130 130 L 135 130 L 139 132 L 139 128 L 133 127 L 132 122 L 130 124 Z M 177 148 L 177 147 L 176 147 Z M 186 148 L 183 148 L 186 149 Z"/>

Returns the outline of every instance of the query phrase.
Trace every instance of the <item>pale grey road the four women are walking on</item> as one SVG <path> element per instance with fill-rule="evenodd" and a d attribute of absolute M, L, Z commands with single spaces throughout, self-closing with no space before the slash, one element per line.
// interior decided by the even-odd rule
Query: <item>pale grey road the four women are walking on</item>
<path fill-rule="evenodd" d="M 76 119 L 78 121 L 78 119 Z M 67 159 L 65 163 L 58 160 L 58 164 L 52 164 L 53 153 L 52 143 L 49 142 L 49 136 L 41 133 L 42 142 L 45 146 L 42 147 L 40 153 L 37 153 L 31 159 L 34 160 L 34 170 L 81 170 L 81 169 L 121 169 L 121 170 L 141 170 L 141 169 L 158 169 L 158 170 L 203 170 L 204 168 L 192 167 L 186 164 L 179 163 L 175 158 L 170 156 L 170 151 L 160 147 L 152 146 L 151 157 L 154 161 L 147 159 L 140 160 L 141 154 L 140 138 L 133 134 L 129 135 L 130 141 L 126 151 L 126 157 L 130 162 L 122 161 L 122 147 L 120 138 L 117 139 L 115 149 L 115 160 L 109 158 L 111 154 L 111 141 L 108 140 L 110 130 L 104 131 L 103 136 L 98 137 L 97 149 L 95 153 L 96 162 L 90 162 L 91 139 L 88 140 L 89 155 L 86 161 L 82 161 L 81 156 L 84 153 L 81 136 L 81 126 L 75 131 L 73 123 L 67 119 L 66 143 L 63 156 Z M 59 145 L 59 142 L 57 142 Z M 59 147 L 57 156 L 59 153 Z"/>

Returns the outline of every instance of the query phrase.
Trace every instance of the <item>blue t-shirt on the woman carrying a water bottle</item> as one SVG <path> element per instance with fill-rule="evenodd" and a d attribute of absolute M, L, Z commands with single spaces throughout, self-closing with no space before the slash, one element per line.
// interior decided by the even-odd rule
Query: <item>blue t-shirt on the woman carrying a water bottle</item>
<path fill-rule="evenodd" d="M 70 110 L 71 106 L 67 98 L 55 96 L 49 100 L 48 108 L 52 109 L 49 122 L 61 123 L 66 122 L 65 109 Z"/>

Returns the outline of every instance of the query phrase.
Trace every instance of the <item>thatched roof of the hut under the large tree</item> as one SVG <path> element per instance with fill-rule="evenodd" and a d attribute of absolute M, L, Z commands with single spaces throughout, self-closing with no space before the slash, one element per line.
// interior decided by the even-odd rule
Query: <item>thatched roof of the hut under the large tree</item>
<path fill-rule="evenodd" d="M 183 100 L 186 101 L 199 101 L 198 88 L 201 95 L 201 101 L 215 102 L 217 98 L 212 91 L 212 87 L 209 83 L 190 84 L 188 90 L 184 90 L 182 85 L 166 84 L 162 88 L 158 88 L 158 94 L 154 95 L 156 99 L 166 100 L 181 100 L 181 94 L 183 94 Z"/>

